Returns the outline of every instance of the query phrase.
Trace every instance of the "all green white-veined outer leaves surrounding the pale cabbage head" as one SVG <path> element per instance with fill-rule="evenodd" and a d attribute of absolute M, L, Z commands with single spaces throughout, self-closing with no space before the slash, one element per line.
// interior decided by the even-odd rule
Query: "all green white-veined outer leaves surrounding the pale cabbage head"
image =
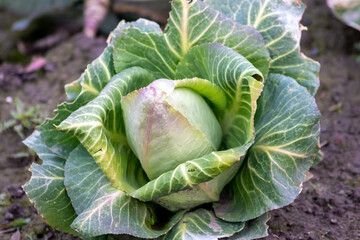
<path fill-rule="evenodd" d="M 268 211 L 293 202 L 320 156 L 319 65 L 300 53 L 303 10 L 298 1 L 174 0 L 164 32 L 144 19 L 121 22 L 66 86 L 71 102 L 25 141 L 43 160 L 24 186 L 39 213 L 85 239 L 266 236 Z M 223 136 L 218 150 L 149 180 L 121 104 L 156 79 L 202 95 Z M 167 200 L 200 188 L 213 203 Z"/>

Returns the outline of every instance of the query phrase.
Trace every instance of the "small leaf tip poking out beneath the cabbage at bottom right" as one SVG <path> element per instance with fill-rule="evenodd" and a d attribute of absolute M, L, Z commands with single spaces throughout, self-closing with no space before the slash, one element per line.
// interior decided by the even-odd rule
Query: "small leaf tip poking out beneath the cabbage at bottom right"
<path fill-rule="evenodd" d="M 245 227 L 238 233 L 229 237 L 228 240 L 251 240 L 268 236 L 268 226 L 266 223 L 270 220 L 270 214 L 265 213 L 258 218 L 245 223 Z"/>

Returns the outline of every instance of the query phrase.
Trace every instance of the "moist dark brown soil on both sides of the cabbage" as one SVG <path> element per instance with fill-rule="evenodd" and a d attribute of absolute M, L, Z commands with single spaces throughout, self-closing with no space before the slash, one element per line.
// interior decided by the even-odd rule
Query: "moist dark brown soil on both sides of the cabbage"
<path fill-rule="evenodd" d="M 324 160 L 311 168 L 312 178 L 294 203 L 271 212 L 269 236 L 274 239 L 360 239 L 360 32 L 335 19 L 325 1 L 308 5 L 302 24 L 302 51 L 321 63 L 321 87 L 316 95 L 321 118 Z M 0 13 L 1 14 L 1 13 Z M 4 39 L 0 28 L 0 39 Z M 105 47 L 105 38 L 88 39 L 81 33 L 53 46 L 42 56 L 44 67 L 26 73 L 26 65 L 0 64 L 0 122 L 11 119 L 19 97 L 29 107 L 38 105 L 52 116 L 65 100 L 63 86 L 80 76 Z M 25 136 L 31 133 L 25 130 Z M 49 227 L 24 194 L 28 168 L 35 156 L 27 153 L 21 137 L 9 129 L 0 136 L 0 239 L 77 239 Z"/>

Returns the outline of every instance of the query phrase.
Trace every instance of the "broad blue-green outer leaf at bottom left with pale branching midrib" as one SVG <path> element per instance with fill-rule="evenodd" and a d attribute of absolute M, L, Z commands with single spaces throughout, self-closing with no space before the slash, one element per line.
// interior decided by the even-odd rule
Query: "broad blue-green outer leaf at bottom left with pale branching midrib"
<path fill-rule="evenodd" d="M 99 179 L 95 180 L 95 177 Z M 94 181 L 98 182 L 94 184 Z M 102 186 L 98 189 L 89 189 L 89 186 L 100 184 Z M 156 238 L 169 231 L 184 214 L 178 212 L 165 226 L 155 230 L 152 227 L 157 217 L 154 206 L 142 203 L 114 188 L 92 156 L 81 145 L 66 161 L 66 186 L 79 212 L 72 227 L 89 237 L 129 234 L 141 238 Z M 82 191 L 85 192 L 82 194 L 83 201 L 76 196 Z"/>

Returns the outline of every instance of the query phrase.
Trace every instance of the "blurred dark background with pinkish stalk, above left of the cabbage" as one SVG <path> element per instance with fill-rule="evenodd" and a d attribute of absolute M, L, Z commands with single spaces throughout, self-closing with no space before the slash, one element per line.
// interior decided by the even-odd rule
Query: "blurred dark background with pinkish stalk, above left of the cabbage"
<path fill-rule="evenodd" d="M 120 20 L 166 24 L 169 0 L 0 0 L 0 63 L 28 63 L 69 36 L 107 36 Z"/>

